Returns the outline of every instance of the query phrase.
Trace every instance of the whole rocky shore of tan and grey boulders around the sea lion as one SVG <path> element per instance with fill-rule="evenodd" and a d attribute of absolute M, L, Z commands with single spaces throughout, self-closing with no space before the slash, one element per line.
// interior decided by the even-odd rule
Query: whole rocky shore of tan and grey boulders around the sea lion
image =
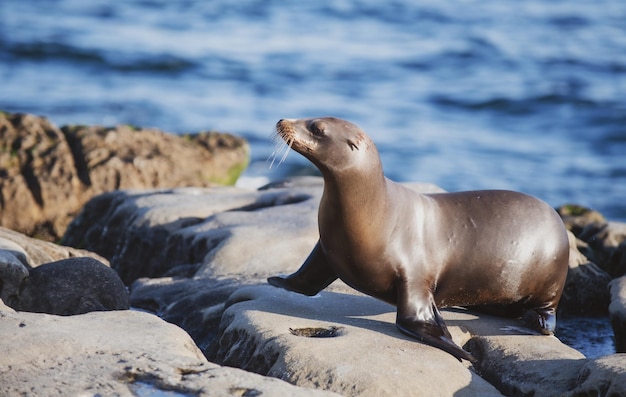
<path fill-rule="evenodd" d="M 454 341 L 478 359 L 470 365 L 403 336 L 394 307 L 341 282 L 315 297 L 269 286 L 267 276 L 293 272 L 317 240 L 322 180 L 294 178 L 258 190 L 216 186 L 245 168 L 245 142 L 205 135 L 200 144 L 144 131 L 59 129 L 43 118 L 0 114 L 0 395 L 626 390 L 626 354 L 586 358 L 519 320 L 444 310 Z M 156 148 L 159 139 L 167 150 Z M 617 351 L 626 352 L 626 224 L 574 205 L 559 213 L 571 231 L 559 315 L 609 313 Z M 60 277 L 62 287 L 24 287 L 58 261 L 61 276 L 47 277 Z M 121 280 L 128 295 L 113 282 L 101 294 L 93 280 L 67 276 L 85 262 L 101 280 Z M 51 294 L 59 289 L 72 293 Z M 53 306 L 79 304 L 64 316 L 20 306 L 38 294 Z M 107 307 L 120 295 L 132 310 Z"/>

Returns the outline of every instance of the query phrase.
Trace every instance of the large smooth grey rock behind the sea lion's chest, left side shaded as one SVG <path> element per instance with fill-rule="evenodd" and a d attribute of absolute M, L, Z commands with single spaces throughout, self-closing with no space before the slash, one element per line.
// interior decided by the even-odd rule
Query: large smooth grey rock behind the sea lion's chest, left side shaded
<path fill-rule="evenodd" d="M 87 203 L 62 243 L 109 258 L 126 284 L 178 271 L 198 278 L 264 280 L 292 271 L 315 245 L 322 186 L 322 178 L 309 177 L 258 191 L 111 192 Z"/>

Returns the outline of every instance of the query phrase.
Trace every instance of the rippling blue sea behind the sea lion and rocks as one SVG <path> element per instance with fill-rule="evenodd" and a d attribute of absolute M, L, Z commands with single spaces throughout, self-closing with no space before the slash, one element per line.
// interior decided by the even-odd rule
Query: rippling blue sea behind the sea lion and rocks
<path fill-rule="evenodd" d="M 1 0 L 0 109 L 249 139 L 334 115 L 386 174 L 626 221 L 626 1 Z"/>

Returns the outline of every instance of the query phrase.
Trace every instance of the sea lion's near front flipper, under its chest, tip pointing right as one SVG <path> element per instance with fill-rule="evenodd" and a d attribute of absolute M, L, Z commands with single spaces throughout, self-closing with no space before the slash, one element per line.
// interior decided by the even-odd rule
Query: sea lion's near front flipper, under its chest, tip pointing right
<path fill-rule="evenodd" d="M 416 307 L 415 303 L 410 302 L 424 302 L 427 305 Z M 432 301 L 432 296 L 413 300 L 405 297 L 403 301 L 399 300 L 396 326 L 403 333 L 450 353 L 459 361 L 465 359 L 472 363 L 476 362 L 470 353 L 452 341 L 452 336 Z"/>

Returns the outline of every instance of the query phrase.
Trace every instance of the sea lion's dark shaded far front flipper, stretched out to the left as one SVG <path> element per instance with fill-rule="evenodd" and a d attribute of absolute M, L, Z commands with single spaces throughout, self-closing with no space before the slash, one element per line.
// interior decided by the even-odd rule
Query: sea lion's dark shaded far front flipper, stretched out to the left
<path fill-rule="evenodd" d="M 336 279 L 337 275 L 326 261 L 318 241 L 297 272 L 287 277 L 270 277 L 267 282 L 275 287 L 313 296 Z"/>

